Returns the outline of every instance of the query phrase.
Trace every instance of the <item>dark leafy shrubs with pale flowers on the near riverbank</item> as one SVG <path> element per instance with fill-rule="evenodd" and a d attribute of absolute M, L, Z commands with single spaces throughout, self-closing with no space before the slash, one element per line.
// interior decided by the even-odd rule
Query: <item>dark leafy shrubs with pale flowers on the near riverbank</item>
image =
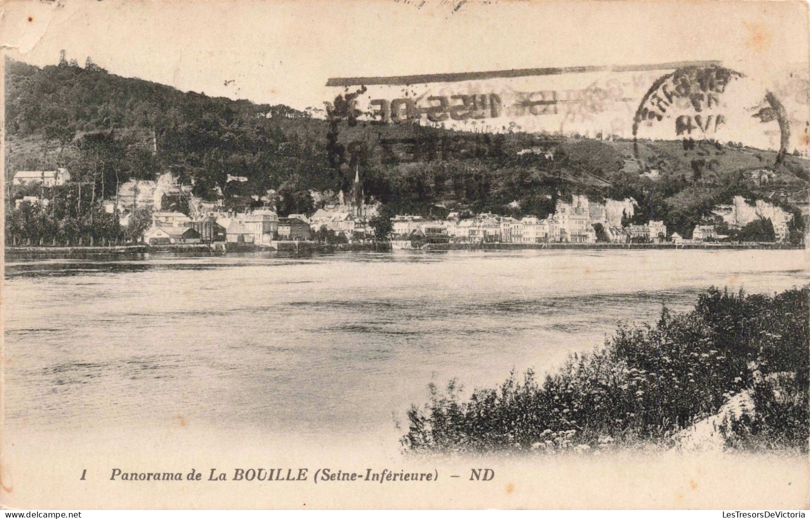
<path fill-rule="evenodd" d="M 604 347 L 571 355 L 542 383 L 531 370 L 513 373 L 467 399 L 455 381 L 430 385 L 401 442 L 453 453 L 666 444 L 745 391 L 756 410 L 723 424 L 729 445 L 806 450 L 808 296 L 810 287 L 775 296 L 712 287 L 689 313 L 664 309 L 654 326 L 620 325 Z"/>

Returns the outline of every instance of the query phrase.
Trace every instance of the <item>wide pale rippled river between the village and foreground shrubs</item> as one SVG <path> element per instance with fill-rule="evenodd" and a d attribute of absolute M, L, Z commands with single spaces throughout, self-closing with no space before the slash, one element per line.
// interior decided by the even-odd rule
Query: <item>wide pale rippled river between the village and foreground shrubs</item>
<path fill-rule="evenodd" d="M 531 250 L 6 262 L 6 427 L 376 435 L 427 384 L 545 372 L 710 285 L 807 283 L 799 250 Z"/>

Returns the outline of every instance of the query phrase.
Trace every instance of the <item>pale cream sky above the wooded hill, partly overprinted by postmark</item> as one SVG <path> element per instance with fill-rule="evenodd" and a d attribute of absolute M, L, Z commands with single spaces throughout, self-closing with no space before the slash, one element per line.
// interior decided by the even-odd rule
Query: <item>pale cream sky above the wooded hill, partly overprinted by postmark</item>
<path fill-rule="evenodd" d="M 65 49 L 68 59 L 90 56 L 113 74 L 299 109 L 333 99 L 342 88 L 326 80 L 335 77 L 718 60 L 763 92 L 775 83 L 795 98 L 787 107 L 795 125 L 808 119 L 804 2 L 9 0 L 2 10 L 0 39 L 15 59 L 55 64 Z M 563 74 L 521 84 L 582 89 L 611 78 Z M 514 84 L 420 88 L 416 96 Z M 626 90 L 634 100 L 646 88 Z M 403 87 L 375 95 L 391 100 Z M 612 119 L 628 117 L 629 108 L 620 110 Z M 526 129 L 535 126 L 558 130 L 560 121 L 535 117 Z"/>

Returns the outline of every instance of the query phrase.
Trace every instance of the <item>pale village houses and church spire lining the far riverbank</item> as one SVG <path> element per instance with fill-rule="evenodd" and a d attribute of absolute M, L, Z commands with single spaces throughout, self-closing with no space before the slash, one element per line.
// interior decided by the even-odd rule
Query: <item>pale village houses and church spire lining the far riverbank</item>
<path fill-rule="evenodd" d="M 65 168 L 57 168 L 53 171 L 19 171 L 15 174 L 13 184 L 49 187 L 64 185 L 68 181 L 70 173 Z M 140 187 L 139 181 L 130 183 L 133 184 L 131 189 L 127 185 L 122 186 L 120 197 L 117 197 L 120 198 L 117 202 L 119 211 L 122 211 L 119 215 L 123 226 L 128 224 L 131 213 L 126 208 L 130 205 L 133 211 L 139 201 L 147 206 L 159 206 L 159 194 L 182 193 L 170 173 L 162 175 L 158 181 L 143 181 Z M 23 202 L 40 200 L 28 196 L 15 200 L 15 205 Z M 48 202 L 41 201 L 43 205 Z M 489 213 L 469 218 L 450 213 L 446 219 L 398 215 L 393 219 L 392 238 L 394 243 L 409 246 L 415 238 L 469 243 L 595 243 L 601 240 L 612 243 L 669 241 L 680 244 L 726 237 L 719 235 L 714 225 L 697 225 L 691 240 L 684 239 L 677 232 L 667 236 L 667 228 L 662 221 L 621 225 L 623 211 L 629 210 L 629 215 L 632 215 L 634 204 L 632 199 L 589 202 L 582 195 L 574 195 L 571 202 L 558 201 L 554 214 L 544 219 L 536 216 L 515 219 Z M 115 211 L 114 205 L 107 202 L 105 208 L 112 213 Z M 322 228 L 335 236 L 343 235 L 350 241 L 363 240 L 373 236 L 369 219 L 378 214 L 379 203 L 364 202 L 359 172 L 356 172 L 352 191 L 347 197 L 341 191 L 337 203 L 327 203 L 309 217 L 288 215 L 287 218 L 279 218 L 275 211 L 267 207 L 245 213 L 201 211 L 202 207 L 198 207 L 198 215 L 194 216 L 171 211 L 153 213 L 152 227 L 145 233 L 144 240 L 155 245 L 217 241 L 271 245 L 274 240 L 310 240 L 313 233 Z M 731 228 L 741 228 L 754 219 L 770 219 L 778 241 L 787 240 L 788 223 L 793 218 L 790 212 L 770 202 L 748 201 L 741 196 L 733 198 L 731 204 L 716 206 L 713 213 Z M 599 226 L 596 224 L 601 226 L 600 236 L 597 236 Z"/>

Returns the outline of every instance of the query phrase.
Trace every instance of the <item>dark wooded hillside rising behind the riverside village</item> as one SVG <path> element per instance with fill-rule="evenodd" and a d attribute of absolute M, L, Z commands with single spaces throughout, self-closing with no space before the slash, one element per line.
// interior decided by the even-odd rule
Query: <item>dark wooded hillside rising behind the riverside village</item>
<path fill-rule="evenodd" d="M 312 191 L 318 200 L 335 197 L 360 168 L 366 197 L 392 212 L 544 215 L 557 199 L 582 194 L 634 198 L 633 219 L 663 219 L 684 232 L 735 195 L 795 210 L 787 200 L 810 178 L 804 158 L 789 155 L 774 168 L 773 151 L 717 143 L 639 143 L 650 157 L 642 171 L 627 139 L 350 125 L 346 118 L 330 124 L 311 115 L 123 78 L 92 63 L 40 69 L 7 60 L 6 179 L 20 169 L 63 166 L 74 180 L 95 178 L 110 198 L 117 183 L 171 171 L 201 198 L 221 193 L 239 207 L 272 190 L 280 212 L 306 213 L 317 208 Z M 104 155 L 111 150 L 115 160 Z M 746 174 L 757 168 L 769 171 L 767 183 Z M 228 175 L 248 181 L 228 182 Z"/>

